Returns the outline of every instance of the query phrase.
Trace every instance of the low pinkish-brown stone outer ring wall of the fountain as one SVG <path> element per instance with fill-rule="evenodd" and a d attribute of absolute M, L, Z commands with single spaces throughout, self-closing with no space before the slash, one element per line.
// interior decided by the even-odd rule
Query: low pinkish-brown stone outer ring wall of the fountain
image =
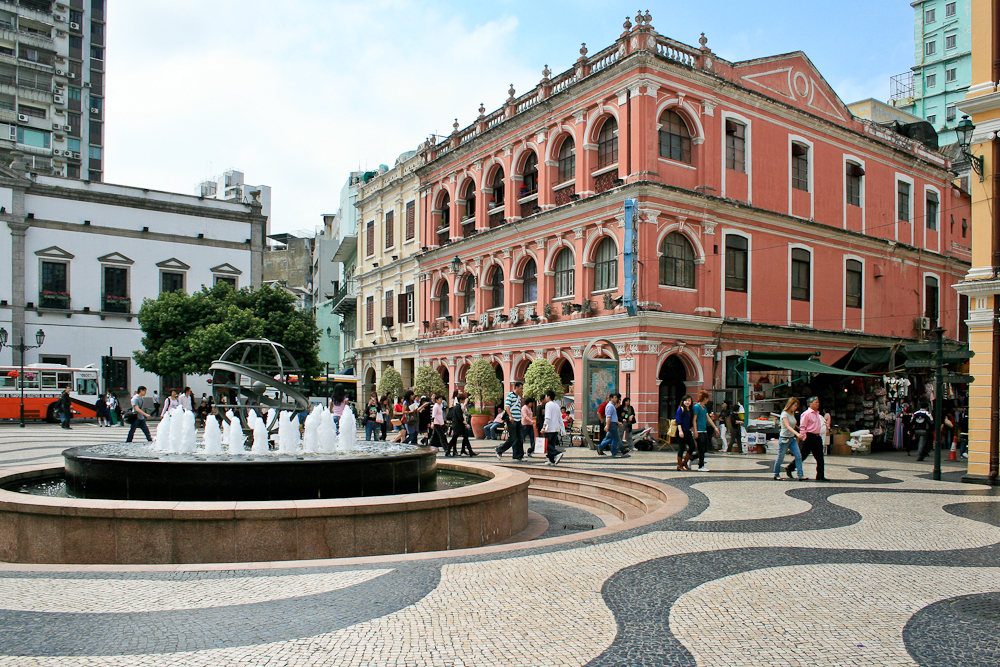
<path fill-rule="evenodd" d="M 447 491 L 370 498 L 177 502 L 51 498 L 6 490 L 61 467 L 0 477 L 0 561 L 242 563 L 465 549 L 524 530 L 526 474 L 474 463 L 438 468 L 486 478 Z"/>

